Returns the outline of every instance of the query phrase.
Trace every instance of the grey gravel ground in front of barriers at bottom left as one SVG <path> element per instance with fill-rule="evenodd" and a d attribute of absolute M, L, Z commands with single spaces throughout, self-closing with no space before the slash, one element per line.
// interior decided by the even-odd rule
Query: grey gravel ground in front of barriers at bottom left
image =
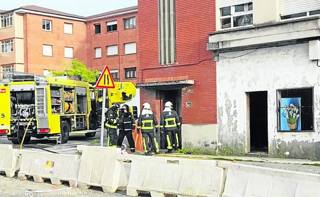
<path fill-rule="evenodd" d="M 124 164 L 127 177 L 130 173 L 130 163 Z M 90 189 L 83 190 L 74 188 L 70 190 L 62 190 L 49 193 L 26 193 L 25 191 L 31 190 L 51 190 L 69 187 L 68 182 L 64 182 L 61 186 L 50 184 L 50 180 L 45 180 L 44 183 L 36 183 L 30 177 L 28 180 L 18 180 L 17 177 L 7 178 L 4 173 L 0 174 L 0 197 L 127 197 L 125 191 L 117 191 L 116 193 L 103 193 L 101 187 L 91 187 Z"/>

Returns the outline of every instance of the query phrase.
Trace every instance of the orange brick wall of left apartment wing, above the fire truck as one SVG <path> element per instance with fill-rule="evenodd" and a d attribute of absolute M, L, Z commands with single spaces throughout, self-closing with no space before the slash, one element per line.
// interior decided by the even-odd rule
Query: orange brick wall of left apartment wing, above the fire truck
<path fill-rule="evenodd" d="M 52 21 L 52 31 L 42 30 L 42 20 Z M 64 23 L 73 24 L 73 34 L 64 34 Z M 43 69 L 64 70 L 72 58 L 64 57 L 64 47 L 73 47 L 73 57 L 87 64 L 84 22 L 24 14 L 25 72 L 43 74 Z M 43 56 L 43 44 L 52 45 L 52 57 Z"/>

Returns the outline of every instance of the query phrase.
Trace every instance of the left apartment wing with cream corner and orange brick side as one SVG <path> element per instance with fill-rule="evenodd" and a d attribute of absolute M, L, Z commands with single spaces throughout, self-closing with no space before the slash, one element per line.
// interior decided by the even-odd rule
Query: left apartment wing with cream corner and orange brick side
<path fill-rule="evenodd" d="M 84 17 L 37 6 L 1 13 L 1 70 L 47 74 L 79 58 L 85 64 Z"/>

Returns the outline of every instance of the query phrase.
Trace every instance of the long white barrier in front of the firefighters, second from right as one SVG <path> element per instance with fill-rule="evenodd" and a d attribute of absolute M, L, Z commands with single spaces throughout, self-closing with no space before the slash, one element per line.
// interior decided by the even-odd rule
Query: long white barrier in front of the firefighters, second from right
<path fill-rule="evenodd" d="M 150 192 L 151 197 L 220 197 L 225 173 L 215 161 L 173 157 L 130 156 L 128 196 Z M 129 158 L 128 158 L 129 159 Z"/>

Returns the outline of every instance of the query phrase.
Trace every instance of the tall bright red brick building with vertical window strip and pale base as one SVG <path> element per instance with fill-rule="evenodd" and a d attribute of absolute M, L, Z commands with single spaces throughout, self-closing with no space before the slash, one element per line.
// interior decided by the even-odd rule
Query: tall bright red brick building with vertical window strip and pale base
<path fill-rule="evenodd" d="M 214 146 L 216 69 L 206 50 L 215 31 L 214 2 L 139 0 L 138 10 L 141 103 L 160 117 L 172 101 L 182 118 L 182 144 Z"/>

